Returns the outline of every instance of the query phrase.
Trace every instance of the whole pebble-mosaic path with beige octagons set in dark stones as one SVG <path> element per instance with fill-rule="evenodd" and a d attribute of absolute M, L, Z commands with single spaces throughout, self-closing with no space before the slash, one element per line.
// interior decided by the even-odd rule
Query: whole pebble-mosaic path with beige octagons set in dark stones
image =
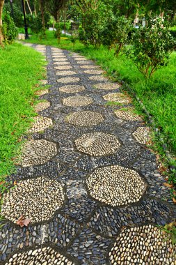
<path fill-rule="evenodd" d="M 37 93 L 39 116 L 8 177 L 16 185 L 3 197 L 0 263 L 174 265 L 158 225 L 176 211 L 131 99 L 93 61 L 28 45 L 46 54 L 50 87 Z M 28 227 L 17 226 L 22 215 Z"/>

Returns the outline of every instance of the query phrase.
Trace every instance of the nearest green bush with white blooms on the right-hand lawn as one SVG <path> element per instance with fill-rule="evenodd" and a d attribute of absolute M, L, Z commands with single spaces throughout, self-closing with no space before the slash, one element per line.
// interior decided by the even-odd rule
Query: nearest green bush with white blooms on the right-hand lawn
<path fill-rule="evenodd" d="M 166 20 L 148 17 L 147 26 L 140 27 L 133 34 L 133 46 L 129 49 L 128 56 L 146 78 L 166 66 L 169 54 L 174 50 L 176 41 L 168 29 Z"/>

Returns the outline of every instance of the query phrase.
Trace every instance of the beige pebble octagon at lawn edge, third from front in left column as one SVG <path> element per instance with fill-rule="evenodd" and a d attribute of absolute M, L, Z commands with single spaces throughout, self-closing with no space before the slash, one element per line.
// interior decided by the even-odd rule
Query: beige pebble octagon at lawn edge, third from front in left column
<path fill-rule="evenodd" d="M 31 167 L 33 165 L 45 164 L 49 159 L 56 156 L 56 153 L 56 144 L 53 142 L 44 139 L 31 140 L 24 144 L 20 165 Z"/>

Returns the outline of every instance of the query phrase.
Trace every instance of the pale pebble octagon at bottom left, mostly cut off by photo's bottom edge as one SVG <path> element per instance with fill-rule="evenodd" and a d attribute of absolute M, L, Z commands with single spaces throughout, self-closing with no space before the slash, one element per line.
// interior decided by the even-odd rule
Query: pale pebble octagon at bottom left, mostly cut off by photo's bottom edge
<path fill-rule="evenodd" d="M 24 265 L 74 265 L 67 257 L 64 257 L 59 252 L 56 252 L 50 247 L 36 248 L 22 254 L 15 254 L 5 265 L 24 264 Z"/>

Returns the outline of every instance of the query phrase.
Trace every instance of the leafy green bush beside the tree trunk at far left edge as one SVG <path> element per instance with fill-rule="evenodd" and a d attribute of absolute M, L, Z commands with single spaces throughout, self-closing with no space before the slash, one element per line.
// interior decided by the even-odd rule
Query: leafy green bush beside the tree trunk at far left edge
<path fill-rule="evenodd" d="M 11 44 L 17 37 L 18 29 L 15 27 L 13 18 L 10 17 L 8 12 L 3 12 L 3 38 L 4 43 Z"/>

